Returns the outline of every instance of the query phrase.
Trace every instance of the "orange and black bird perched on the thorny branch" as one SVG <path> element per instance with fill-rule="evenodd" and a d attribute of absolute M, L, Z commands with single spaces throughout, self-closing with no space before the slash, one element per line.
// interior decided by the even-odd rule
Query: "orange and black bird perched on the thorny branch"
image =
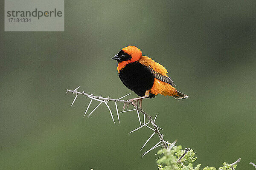
<path fill-rule="evenodd" d="M 112 59 L 118 62 L 117 71 L 122 83 L 140 96 L 130 99 L 133 104 L 134 100 L 140 102 L 140 108 L 143 98 L 151 99 L 157 94 L 173 96 L 175 99 L 189 97 L 175 89 L 175 84 L 167 76 L 168 72 L 163 65 L 143 56 L 140 49 L 135 46 L 122 48 Z"/>

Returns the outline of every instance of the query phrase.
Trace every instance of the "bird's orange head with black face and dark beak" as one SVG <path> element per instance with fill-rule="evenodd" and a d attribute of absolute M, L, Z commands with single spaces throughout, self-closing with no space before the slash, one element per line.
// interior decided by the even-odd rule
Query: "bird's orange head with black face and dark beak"
<path fill-rule="evenodd" d="M 142 56 L 142 52 L 139 48 L 129 45 L 127 47 L 122 48 L 118 54 L 116 54 L 112 59 L 117 60 L 118 66 L 117 70 L 121 70 L 125 65 L 131 62 L 136 62 Z"/>

